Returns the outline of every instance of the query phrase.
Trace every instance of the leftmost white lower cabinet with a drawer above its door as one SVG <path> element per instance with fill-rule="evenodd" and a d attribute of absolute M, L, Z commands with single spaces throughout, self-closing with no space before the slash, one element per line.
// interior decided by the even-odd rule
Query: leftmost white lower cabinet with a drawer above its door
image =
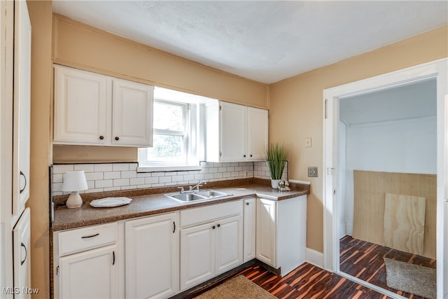
<path fill-rule="evenodd" d="M 118 223 L 53 235 L 55 298 L 118 298 Z"/>

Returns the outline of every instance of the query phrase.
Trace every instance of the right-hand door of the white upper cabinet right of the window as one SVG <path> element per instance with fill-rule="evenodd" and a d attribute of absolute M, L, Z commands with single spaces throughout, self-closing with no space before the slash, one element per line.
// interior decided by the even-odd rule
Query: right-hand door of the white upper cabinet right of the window
<path fill-rule="evenodd" d="M 267 110 L 248 107 L 248 146 L 250 160 L 264 160 L 267 148 Z"/>

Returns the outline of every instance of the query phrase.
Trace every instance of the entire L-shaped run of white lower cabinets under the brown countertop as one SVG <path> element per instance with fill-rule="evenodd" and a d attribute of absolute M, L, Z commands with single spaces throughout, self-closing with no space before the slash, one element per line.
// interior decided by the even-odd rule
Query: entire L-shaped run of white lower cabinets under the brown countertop
<path fill-rule="evenodd" d="M 307 195 L 253 197 L 54 232 L 54 297 L 169 298 L 253 258 L 285 275 L 304 263 L 306 214 Z"/>

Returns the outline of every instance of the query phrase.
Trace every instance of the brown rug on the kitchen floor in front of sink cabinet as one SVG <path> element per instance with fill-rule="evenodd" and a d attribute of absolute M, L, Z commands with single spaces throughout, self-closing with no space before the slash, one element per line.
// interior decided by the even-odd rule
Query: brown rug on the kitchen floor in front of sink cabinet
<path fill-rule="evenodd" d="M 274 295 L 239 275 L 202 293 L 197 299 L 276 299 Z"/>

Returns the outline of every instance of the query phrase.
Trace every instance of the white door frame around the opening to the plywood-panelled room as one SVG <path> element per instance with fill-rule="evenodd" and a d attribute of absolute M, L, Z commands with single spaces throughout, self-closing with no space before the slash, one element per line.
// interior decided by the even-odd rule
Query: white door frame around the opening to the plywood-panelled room
<path fill-rule="evenodd" d="M 444 140 L 448 138 L 445 137 L 445 131 L 447 130 L 445 125 L 448 122 L 448 120 L 445 120 L 445 118 L 448 118 L 448 116 L 445 116 L 445 110 L 448 109 L 446 107 L 448 104 L 445 103 L 448 90 L 447 58 L 323 90 L 323 101 L 325 105 L 323 120 L 323 165 L 325 169 L 323 175 L 323 267 L 326 270 L 346 276 L 346 274 L 339 271 L 339 211 L 337 209 L 339 192 L 337 192 L 338 172 L 336 171 L 339 167 L 337 165 L 339 156 L 337 140 L 339 99 L 407 85 L 409 83 L 416 83 L 429 78 L 436 78 L 437 80 L 437 298 L 443 298 L 443 294 L 448 293 L 448 286 L 443 285 L 443 277 L 444 275 L 448 275 L 443 270 L 443 202 L 445 181 L 448 179 L 448 175 L 444 170 L 446 168 L 444 165 L 447 165 L 447 161 L 445 160 L 447 157 L 445 157 L 444 153 L 448 150 L 448 142 Z M 448 215 L 445 215 L 445 217 L 448 217 Z M 353 279 L 353 277 L 349 278 Z M 402 298 L 395 293 L 388 292 L 365 281 L 360 281 L 359 279 L 354 280 L 377 291 L 386 293 L 386 295 Z"/>

